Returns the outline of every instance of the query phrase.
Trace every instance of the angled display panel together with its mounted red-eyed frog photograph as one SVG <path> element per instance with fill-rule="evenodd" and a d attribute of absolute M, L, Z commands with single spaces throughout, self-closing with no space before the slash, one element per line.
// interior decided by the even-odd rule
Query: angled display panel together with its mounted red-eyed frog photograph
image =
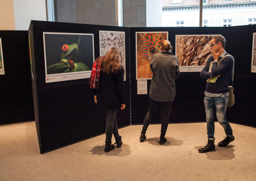
<path fill-rule="evenodd" d="M 94 103 L 89 86 L 103 31 L 120 32 L 129 40 L 128 27 L 31 21 L 33 97 L 42 154 L 105 132 L 106 115 Z M 130 45 L 122 43 L 130 80 Z M 118 127 L 131 124 L 130 82 L 124 84 L 126 108 L 116 114 Z"/>

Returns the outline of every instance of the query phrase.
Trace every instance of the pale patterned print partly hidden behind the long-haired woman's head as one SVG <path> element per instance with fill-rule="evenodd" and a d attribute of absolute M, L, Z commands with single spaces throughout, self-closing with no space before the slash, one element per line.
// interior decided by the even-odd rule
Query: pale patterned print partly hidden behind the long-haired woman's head
<path fill-rule="evenodd" d="M 112 47 L 120 49 L 122 55 L 122 66 L 125 70 L 125 32 L 124 31 L 99 31 L 100 56 L 104 56 Z M 124 74 L 126 80 L 126 73 Z"/>

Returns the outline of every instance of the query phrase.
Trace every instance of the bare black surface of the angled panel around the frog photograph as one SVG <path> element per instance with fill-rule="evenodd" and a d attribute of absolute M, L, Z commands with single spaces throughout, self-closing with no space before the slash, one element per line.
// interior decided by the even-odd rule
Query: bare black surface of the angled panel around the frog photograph
<path fill-rule="evenodd" d="M 118 127 L 131 124 L 129 28 L 104 25 L 31 21 L 35 80 L 33 94 L 40 152 L 45 153 L 105 132 L 106 116 L 93 101 L 89 78 L 45 83 L 43 33 L 93 34 L 95 59 L 99 57 L 99 31 L 125 32 L 125 110 L 118 110 Z M 61 47 L 60 47 L 61 48 Z"/>

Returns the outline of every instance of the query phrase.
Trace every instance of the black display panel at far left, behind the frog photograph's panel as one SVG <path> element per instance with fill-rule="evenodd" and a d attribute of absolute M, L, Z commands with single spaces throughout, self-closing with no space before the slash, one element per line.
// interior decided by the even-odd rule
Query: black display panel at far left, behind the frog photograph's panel
<path fill-rule="evenodd" d="M 0 31 L 4 75 L 0 75 L 0 125 L 35 120 L 28 31 Z"/>

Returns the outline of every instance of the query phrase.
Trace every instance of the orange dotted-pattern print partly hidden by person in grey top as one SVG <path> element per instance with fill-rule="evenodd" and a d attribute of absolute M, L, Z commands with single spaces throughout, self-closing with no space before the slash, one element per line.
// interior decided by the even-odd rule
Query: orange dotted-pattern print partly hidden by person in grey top
<path fill-rule="evenodd" d="M 151 79 L 150 62 L 160 51 L 160 43 L 168 40 L 166 32 L 136 32 L 136 79 Z"/>

